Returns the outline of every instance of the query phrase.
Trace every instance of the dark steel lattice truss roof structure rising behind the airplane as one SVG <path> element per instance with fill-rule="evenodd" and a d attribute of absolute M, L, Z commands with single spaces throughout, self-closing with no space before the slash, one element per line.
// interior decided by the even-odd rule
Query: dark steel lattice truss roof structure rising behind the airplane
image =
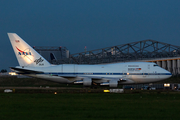
<path fill-rule="evenodd" d="M 69 58 L 57 60 L 57 64 L 102 64 L 172 57 L 180 57 L 180 46 L 143 40 L 71 54 Z"/>

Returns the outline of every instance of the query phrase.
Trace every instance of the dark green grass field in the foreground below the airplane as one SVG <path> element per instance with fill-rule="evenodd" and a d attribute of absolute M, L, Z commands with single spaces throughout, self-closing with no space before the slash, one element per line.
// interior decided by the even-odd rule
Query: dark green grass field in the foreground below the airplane
<path fill-rule="evenodd" d="M 179 112 L 177 93 L 0 93 L 0 120 L 169 120 Z"/>

